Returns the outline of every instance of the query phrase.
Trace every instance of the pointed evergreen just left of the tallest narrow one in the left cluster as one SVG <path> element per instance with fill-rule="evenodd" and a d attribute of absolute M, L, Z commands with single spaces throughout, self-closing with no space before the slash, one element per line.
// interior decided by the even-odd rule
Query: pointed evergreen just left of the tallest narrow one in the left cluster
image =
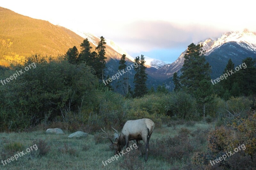
<path fill-rule="evenodd" d="M 78 57 L 78 63 L 83 63 L 85 62 L 86 65 L 92 66 L 94 64 L 94 60 L 91 56 L 91 45 L 90 42 L 88 41 L 88 38 L 84 39 L 83 43 L 80 44 L 81 47 L 81 53 Z"/>

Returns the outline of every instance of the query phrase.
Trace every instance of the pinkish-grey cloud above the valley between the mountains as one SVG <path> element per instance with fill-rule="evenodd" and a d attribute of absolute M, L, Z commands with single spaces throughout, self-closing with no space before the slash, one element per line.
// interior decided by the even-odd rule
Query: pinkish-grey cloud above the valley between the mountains
<path fill-rule="evenodd" d="M 106 32 L 127 52 L 187 47 L 207 38 L 220 37 L 226 30 L 204 25 L 178 25 L 167 21 L 136 21 Z"/>

